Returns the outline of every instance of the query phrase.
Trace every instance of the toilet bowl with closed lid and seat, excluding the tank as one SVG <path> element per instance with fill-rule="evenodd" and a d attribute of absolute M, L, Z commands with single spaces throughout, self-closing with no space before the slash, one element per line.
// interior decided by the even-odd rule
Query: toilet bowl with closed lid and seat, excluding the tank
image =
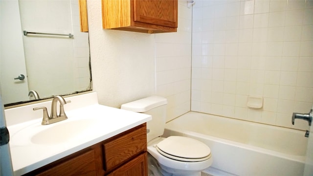
<path fill-rule="evenodd" d="M 182 143 L 184 143 L 185 141 L 189 141 L 190 139 L 190 141 L 195 143 L 192 143 L 191 145 L 181 146 L 182 148 L 180 149 L 176 148 L 177 149 L 176 152 L 172 151 L 174 154 L 171 154 L 169 152 L 171 152 L 171 150 L 174 149 L 173 146 L 169 146 L 172 143 L 171 141 L 172 137 L 175 137 L 174 141 L 176 142 L 181 140 Z M 170 141 L 168 142 L 167 140 Z M 164 141 L 165 143 L 163 144 Z M 179 143 L 176 144 L 179 145 Z M 196 147 L 198 144 L 199 147 Z M 165 150 L 167 150 L 166 152 L 168 153 L 159 149 L 158 146 L 165 147 Z M 195 148 L 190 148 L 192 146 Z M 169 149 L 167 149 L 167 147 L 169 147 Z M 186 149 L 187 150 L 190 149 L 189 152 L 184 152 L 184 150 Z M 156 158 L 161 169 L 163 170 L 163 176 L 165 176 L 166 173 L 172 174 L 173 176 L 200 176 L 201 175 L 200 172 L 208 168 L 212 164 L 210 148 L 208 148 L 204 143 L 188 137 L 182 136 L 169 136 L 168 138 L 158 137 L 148 143 L 148 152 L 154 158 Z M 182 153 L 179 154 L 179 152 Z M 195 153 L 198 153 L 198 155 Z M 201 154 L 201 156 L 199 154 Z"/>

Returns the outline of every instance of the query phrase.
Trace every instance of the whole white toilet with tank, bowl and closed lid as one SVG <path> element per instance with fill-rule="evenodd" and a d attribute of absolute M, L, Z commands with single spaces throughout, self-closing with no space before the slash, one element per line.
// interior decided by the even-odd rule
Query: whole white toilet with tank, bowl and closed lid
<path fill-rule="evenodd" d="M 166 98 L 151 96 L 123 104 L 121 109 L 152 116 L 147 122 L 148 153 L 157 160 L 162 176 L 201 176 L 201 171 L 212 164 L 211 150 L 189 137 L 160 137 L 165 128 L 166 105 Z"/>

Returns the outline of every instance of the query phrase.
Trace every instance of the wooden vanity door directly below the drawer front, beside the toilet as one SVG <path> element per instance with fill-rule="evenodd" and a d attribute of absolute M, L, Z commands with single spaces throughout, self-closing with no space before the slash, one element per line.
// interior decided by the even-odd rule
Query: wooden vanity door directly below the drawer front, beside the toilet
<path fill-rule="evenodd" d="M 108 176 L 147 176 L 147 152 L 122 165 Z"/>

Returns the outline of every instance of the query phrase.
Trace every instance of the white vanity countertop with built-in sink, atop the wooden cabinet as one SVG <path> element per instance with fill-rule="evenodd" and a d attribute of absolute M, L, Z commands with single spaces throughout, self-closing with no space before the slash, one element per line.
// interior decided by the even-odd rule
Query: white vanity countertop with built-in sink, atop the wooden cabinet
<path fill-rule="evenodd" d="M 94 96 L 94 93 L 92 92 L 91 96 Z M 86 95 L 84 96 L 86 98 Z M 97 101 L 75 109 L 73 108 L 73 104 L 75 104 L 73 101 L 77 101 L 77 97 L 68 97 L 66 100 L 72 101 L 70 110 L 67 110 L 67 105 L 64 105 L 68 117 L 67 120 L 50 125 L 41 125 L 42 116 L 40 118 L 29 118 L 29 120 L 22 123 L 16 123 L 16 120 L 12 119 L 12 122 L 10 122 L 9 120 L 7 128 L 10 133 L 9 145 L 15 176 L 26 174 L 151 120 L 150 115 L 102 106 Z M 38 105 L 32 107 L 38 107 Z M 21 111 L 23 112 L 23 110 Z M 29 112 L 35 111 L 31 108 Z M 39 114 L 42 113 L 41 111 Z M 11 116 L 13 114 L 16 115 L 16 112 L 12 112 L 11 110 L 6 113 L 5 110 L 6 119 L 13 118 Z M 84 125 L 75 126 L 76 122 L 83 123 Z M 64 130 L 64 127 L 67 130 Z M 50 128 L 52 131 L 49 130 Z M 75 133 L 75 136 L 71 137 L 71 133 Z M 41 136 L 46 135 L 47 138 L 43 141 L 36 141 L 34 140 L 36 134 Z M 58 138 L 59 136 L 62 136 L 61 139 Z"/>

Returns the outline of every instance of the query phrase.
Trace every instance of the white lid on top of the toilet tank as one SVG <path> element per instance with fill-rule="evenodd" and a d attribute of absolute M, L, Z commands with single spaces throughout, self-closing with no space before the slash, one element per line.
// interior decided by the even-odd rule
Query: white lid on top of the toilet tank
<path fill-rule="evenodd" d="M 135 100 L 133 102 L 123 104 L 121 106 L 121 109 L 131 110 L 134 112 L 146 112 L 148 110 L 151 110 L 153 108 L 166 105 L 166 104 L 167 104 L 166 98 L 160 97 L 160 96 L 150 96 L 147 98 L 142 98 L 139 100 Z"/>

